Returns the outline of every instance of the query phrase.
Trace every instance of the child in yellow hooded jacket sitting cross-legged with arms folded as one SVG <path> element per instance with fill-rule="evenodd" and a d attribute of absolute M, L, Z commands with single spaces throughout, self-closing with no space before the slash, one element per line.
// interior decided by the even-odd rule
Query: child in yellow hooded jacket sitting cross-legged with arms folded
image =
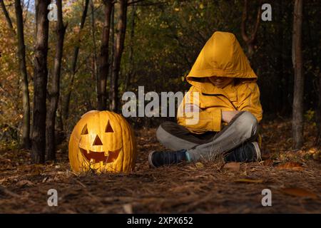
<path fill-rule="evenodd" d="M 159 142 L 173 152 L 151 152 L 150 165 L 210 160 L 221 154 L 225 161 L 261 160 L 256 140 L 263 110 L 256 80 L 233 33 L 216 31 L 187 76 L 192 85 L 189 92 L 198 93 L 198 99 L 188 104 L 191 113 L 198 113 L 198 121 L 188 123 L 183 100 L 178 123 L 165 122 L 156 133 Z"/>

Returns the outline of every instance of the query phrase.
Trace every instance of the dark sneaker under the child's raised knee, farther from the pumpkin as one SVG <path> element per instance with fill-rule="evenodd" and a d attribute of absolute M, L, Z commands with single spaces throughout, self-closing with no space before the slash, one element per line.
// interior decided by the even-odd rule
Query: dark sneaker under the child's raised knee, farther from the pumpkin
<path fill-rule="evenodd" d="M 227 156 L 225 162 L 260 162 L 262 160 L 258 142 L 249 142 L 236 147 Z"/>

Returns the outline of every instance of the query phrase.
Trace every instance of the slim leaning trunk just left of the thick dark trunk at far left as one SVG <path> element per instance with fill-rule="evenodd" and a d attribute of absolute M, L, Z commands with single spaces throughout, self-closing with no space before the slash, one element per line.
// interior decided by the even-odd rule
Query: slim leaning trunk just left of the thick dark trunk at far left
<path fill-rule="evenodd" d="M 29 87 L 28 75 L 26 70 L 26 46 L 24 44 L 24 19 L 22 16 L 22 8 L 20 0 L 14 1 L 16 9 L 16 28 L 18 39 L 18 57 L 20 68 L 20 87 L 22 90 L 22 108 L 24 110 L 22 120 L 22 147 L 29 149 L 31 147 L 30 140 L 30 100 L 29 100 Z"/>

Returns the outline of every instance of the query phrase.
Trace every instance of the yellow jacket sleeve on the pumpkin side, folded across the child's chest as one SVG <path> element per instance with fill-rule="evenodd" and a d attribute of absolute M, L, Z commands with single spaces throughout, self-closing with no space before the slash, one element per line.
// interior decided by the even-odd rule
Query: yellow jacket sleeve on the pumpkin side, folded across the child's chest
<path fill-rule="evenodd" d="M 220 108 L 207 108 L 200 110 L 188 107 L 200 107 L 200 93 L 192 86 L 188 91 L 193 98 L 187 98 L 185 94 L 178 107 L 178 124 L 188 128 L 193 133 L 205 133 L 206 131 L 220 131 L 222 125 L 222 113 Z M 193 93 L 194 92 L 194 93 Z M 195 96 L 198 93 L 198 98 Z M 194 95 L 192 95 L 194 94 Z"/>

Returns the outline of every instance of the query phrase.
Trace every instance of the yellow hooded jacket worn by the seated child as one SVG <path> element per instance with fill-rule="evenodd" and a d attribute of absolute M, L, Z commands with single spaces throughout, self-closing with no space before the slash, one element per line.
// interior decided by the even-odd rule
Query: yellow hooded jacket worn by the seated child
<path fill-rule="evenodd" d="M 218 88 L 208 80 L 211 76 L 235 80 L 224 88 Z M 248 111 L 260 122 L 263 110 L 257 78 L 234 34 L 216 31 L 205 43 L 186 78 L 192 85 L 188 92 L 198 92 L 199 95 L 198 100 L 191 99 L 190 102 L 201 109 L 198 123 L 186 124 L 188 117 L 182 113 L 182 106 L 186 105 L 185 95 L 178 108 L 178 124 L 193 133 L 220 131 L 222 110 Z"/>

